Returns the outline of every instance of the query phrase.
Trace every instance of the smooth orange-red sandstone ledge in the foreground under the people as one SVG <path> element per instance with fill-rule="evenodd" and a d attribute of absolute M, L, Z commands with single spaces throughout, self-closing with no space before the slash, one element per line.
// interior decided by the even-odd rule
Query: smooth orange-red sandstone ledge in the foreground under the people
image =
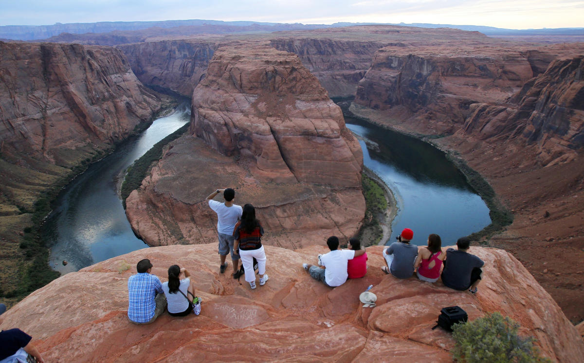
<path fill-rule="evenodd" d="M 267 246 L 266 285 L 251 290 L 219 274 L 214 243 L 138 250 L 69 273 L 27 296 L 6 313 L 2 329 L 33 336 L 47 361 L 408 361 L 450 362 L 454 341 L 432 330 L 440 309 L 458 305 L 469 319 L 498 311 L 533 336 L 552 361 L 575 362 L 584 342 L 533 277 L 509 253 L 472 247 L 486 261 L 477 295 L 442 282 L 385 275 L 380 246 L 369 247 L 369 271 L 337 288 L 304 272 L 324 246 L 296 252 Z M 136 326 L 127 320 L 127 278 L 142 258 L 166 280 L 171 264 L 186 267 L 200 296 L 201 315 L 171 317 Z M 375 308 L 359 294 L 373 284 Z"/>

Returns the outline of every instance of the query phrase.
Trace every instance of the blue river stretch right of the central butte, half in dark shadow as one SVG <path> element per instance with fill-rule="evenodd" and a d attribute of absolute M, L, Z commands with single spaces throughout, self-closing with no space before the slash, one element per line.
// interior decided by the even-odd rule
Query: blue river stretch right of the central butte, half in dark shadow
<path fill-rule="evenodd" d="M 390 187 L 398 212 L 389 244 L 404 228 L 412 243 L 426 245 L 430 233 L 453 245 L 491 223 L 489 208 L 444 153 L 418 139 L 345 116 L 361 140 L 363 163 Z"/>

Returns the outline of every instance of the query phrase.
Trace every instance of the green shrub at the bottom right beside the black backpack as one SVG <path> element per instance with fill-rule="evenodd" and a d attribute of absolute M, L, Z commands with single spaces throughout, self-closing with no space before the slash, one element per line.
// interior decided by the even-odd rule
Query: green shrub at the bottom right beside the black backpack
<path fill-rule="evenodd" d="M 517 329 L 519 324 L 498 312 L 454 324 L 452 354 L 461 362 L 551 362 L 539 355 L 533 338 L 520 337 Z"/>

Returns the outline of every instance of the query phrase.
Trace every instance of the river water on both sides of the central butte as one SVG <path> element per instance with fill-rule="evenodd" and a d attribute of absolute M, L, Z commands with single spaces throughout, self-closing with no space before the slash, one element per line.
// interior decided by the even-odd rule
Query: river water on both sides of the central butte
<path fill-rule="evenodd" d="M 155 120 L 140 136 L 91 165 L 61 191 L 43 225 L 51 267 L 65 274 L 147 247 L 127 221 L 119 196 L 120 179 L 134 160 L 189 118 L 189 107 L 184 104 L 170 116 Z M 345 120 L 360 136 L 365 165 L 387 183 L 397 199 L 399 211 L 388 242 L 409 227 L 416 244 L 425 244 L 429 233 L 438 233 L 444 244 L 452 244 L 490 223 L 485 203 L 443 152 L 357 118 Z M 68 262 L 65 266 L 64 260 Z"/>

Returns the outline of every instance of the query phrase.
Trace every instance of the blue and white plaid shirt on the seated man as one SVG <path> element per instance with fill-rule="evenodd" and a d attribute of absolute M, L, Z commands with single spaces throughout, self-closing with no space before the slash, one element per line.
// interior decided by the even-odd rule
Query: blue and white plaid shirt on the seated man
<path fill-rule="evenodd" d="M 135 323 L 150 322 L 156 310 L 154 297 L 162 294 L 159 278 L 148 273 L 138 273 L 128 278 L 128 317 Z"/>

